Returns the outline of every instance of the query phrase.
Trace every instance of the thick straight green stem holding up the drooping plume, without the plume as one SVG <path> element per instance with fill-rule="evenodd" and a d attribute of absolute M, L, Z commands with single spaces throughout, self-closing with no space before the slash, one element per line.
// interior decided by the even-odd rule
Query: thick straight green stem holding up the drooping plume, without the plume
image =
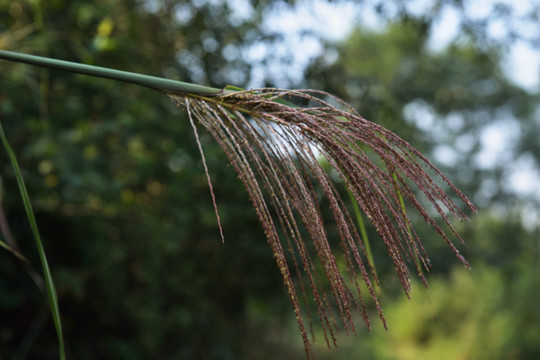
<path fill-rule="evenodd" d="M 128 71 L 108 69 L 99 66 L 79 64 L 71 61 L 21 54 L 6 50 L 0 50 L 0 59 L 41 66 L 49 69 L 68 71 L 77 74 L 97 76 L 101 78 L 141 85 L 160 91 L 173 91 L 205 96 L 218 95 L 222 92 L 221 89 L 211 88 L 208 86 L 190 84 L 182 81 L 164 79 L 155 76 L 136 74 Z"/>

